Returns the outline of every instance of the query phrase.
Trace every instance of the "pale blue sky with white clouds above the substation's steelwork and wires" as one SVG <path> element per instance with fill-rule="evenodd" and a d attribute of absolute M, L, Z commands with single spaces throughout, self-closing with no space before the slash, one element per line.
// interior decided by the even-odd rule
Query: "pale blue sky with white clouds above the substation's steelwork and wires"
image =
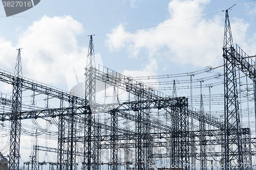
<path fill-rule="evenodd" d="M 1 6 L 0 68 L 13 72 L 16 48 L 23 48 L 24 77 L 68 90 L 66 69 L 87 56 L 90 34 L 104 66 L 126 75 L 218 66 L 223 62 L 221 11 L 236 3 L 229 12 L 234 43 L 254 55 L 255 1 L 42 0 L 10 17 Z"/>

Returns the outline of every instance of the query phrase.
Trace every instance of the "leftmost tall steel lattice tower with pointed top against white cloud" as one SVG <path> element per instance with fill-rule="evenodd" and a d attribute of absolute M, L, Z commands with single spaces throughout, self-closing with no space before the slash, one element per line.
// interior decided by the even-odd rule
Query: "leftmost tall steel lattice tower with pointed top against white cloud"
<path fill-rule="evenodd" d="M 11 170 L 19 169 L 19 144 L 20 144 L 20 117 L 22 111 L 22 59 L 20 48 L 16 60 L 12 90 L 12 115 L 10 136 L 10 167 Z"/>

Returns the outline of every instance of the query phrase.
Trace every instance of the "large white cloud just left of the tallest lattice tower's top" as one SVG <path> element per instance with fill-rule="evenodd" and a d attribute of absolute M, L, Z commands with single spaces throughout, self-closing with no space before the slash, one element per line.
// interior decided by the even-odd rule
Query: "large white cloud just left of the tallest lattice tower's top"
<path fill-rule="evenodd" d="M 223 18 L 197 17 L 204 15 L 204 5 L 208 3 L 209 0 L 173 0 L 168 4 L 169 18 L 157 27 L 140 29 L 132 34 L 124 32 L 125 28 L 120 24 L 105 43 L 110 51 L 126 48 L 130 57 L 145 51 L 149 57 L 168 58 L 181 65 L 219 65 L 222 62 Z M 187 19 L 193 17 L 197 18 Z M 239 29 L 244 31 L 246 27 L 248 25 L 241 25 Z"/>

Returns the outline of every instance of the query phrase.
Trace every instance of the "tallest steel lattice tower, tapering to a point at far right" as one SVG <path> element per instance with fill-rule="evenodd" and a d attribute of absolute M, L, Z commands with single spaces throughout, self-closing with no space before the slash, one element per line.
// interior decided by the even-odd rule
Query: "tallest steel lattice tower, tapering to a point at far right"
<path fill-rule="evenodd" d="M 243 164 L 236 65 L 232 57 L 234 56 L 234 48 L 228 10 L 226 10 L 223 52 L 225 126 L 223 163 L 224 168 L 228 169 L 229 164 Z M 239 166 L 239 169 L 243 169 L 243 167 Z"/>

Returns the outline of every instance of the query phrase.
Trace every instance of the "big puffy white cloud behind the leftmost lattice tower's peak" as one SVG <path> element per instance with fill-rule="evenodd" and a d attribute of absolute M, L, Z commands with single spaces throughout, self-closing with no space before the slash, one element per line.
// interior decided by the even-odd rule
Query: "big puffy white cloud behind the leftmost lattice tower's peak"
<path fill-rule="evenodd" d="M 66 82 L 65 70 L 68 65 L 87 54 L 86 48 L 79 47 L 76 40 L 77 35 L 82 32 L 82 24 L 71 16 L 43 16 L 34 21 L 32 26 L 21 34 L 18 44 L 15 45 L 16 48 L 23 47 L 23 76 L 47 84 Z M 60 40 L 68 41 L 58 42 Z M 7 70 L 12 71 L 17 56 L 14 51 L 16 48 L 1 37 L 0 44 L 3 54 L 1 68 L 9 68 Z M 14 53 L 5 54 L 9 51 Z"/>

